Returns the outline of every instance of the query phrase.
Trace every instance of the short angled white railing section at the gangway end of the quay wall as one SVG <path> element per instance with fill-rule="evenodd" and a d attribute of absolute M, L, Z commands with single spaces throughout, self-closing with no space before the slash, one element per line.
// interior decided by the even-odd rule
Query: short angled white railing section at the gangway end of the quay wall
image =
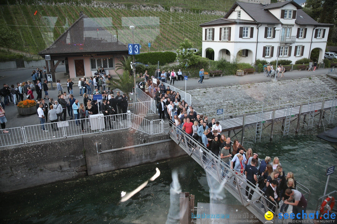
<path fill-rule="evenodd" d="M 143 118 L 142 116 L 131 114 L 130 120 L 131 128 L 138 131 L 147 133 L 149 135 L 163 133 L 163 122 L 161 119 L 150 121 L 146 118 Z"/>

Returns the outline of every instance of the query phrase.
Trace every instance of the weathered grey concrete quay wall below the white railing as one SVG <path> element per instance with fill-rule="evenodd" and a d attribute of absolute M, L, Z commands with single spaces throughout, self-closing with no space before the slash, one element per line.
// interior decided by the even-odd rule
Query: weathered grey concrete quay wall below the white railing
<path fill-rule="evenodd" d="M 142 132 L 122 130 L 76 138 L 6 147 L 0 150 L 0 192 L 68 180 L 86 175 L 142 165 L 184 155 L 173 141 L 116 149 L 168 139 L 167 134 L 149 136 Z"/>

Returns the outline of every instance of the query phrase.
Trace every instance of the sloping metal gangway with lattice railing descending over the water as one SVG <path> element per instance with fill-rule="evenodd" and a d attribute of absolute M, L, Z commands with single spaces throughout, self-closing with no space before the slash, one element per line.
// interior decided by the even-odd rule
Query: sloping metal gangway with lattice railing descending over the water
<path fill-rule="evenodd" d="M 274 214 L 273 223 L 276 222 L 279 209 L 276 205 L 268 208 L 269 200 L 264 196 L 264 192 L 257 186 L 254 189 L 252 199 L 247 201 L 246 186 L 247 179 L 236 174 L 231 170 L 227 164 L 219 159 L 218 155 L 213 154 L 202 144 L 197 142 L 189 134 L 184 132 L 181 128 L 171 125 L 169 131 L 171 139 L 173 139 L 191 158 L 193 158 L 209 175 L 211 175 L 217 182 L 220 183 L 229 193 L 231 193 L 238 201 L 241 202 L 250 212 L 252 212 L 259 220 L 265 222 L 265 213 L 269 210 Z M 213 165 L 213 166 L 212 166 Z M 223 171 L 228 172 L 228 178 L 223 177 Z M 226 175 L 225 175 L 226 176 Z M 235 179 L 234 179 L 235 178 Z M 310 190 L 297 182 L 297 190 L 301 191 L 307 200 L 310 198 Z M 251 190 L 251 188 L 249 188 Z M 281 206 L 281 203 L 280 205 Z M 291 211 L 292 206 L 289 206 L 288 211 Z M 273 212 L 275 211 L 275 212 Z"/>

